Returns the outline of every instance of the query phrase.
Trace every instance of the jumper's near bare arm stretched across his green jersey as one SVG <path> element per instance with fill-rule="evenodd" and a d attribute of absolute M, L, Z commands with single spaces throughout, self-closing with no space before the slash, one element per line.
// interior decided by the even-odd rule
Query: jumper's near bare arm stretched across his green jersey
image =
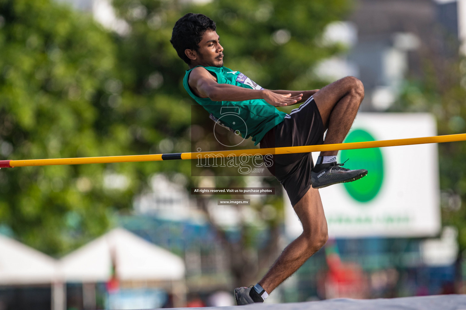
<path fill-rule="evenodd" d="M 210 98 L 212 101 L 264 99 L 272 106 L 289 106 L 302 99 L 302 93 L 298 92 L 295 95 L 291 95 L 289 92 L 279 94 L 268 89 L 256 90 L 230 84 L 219 84 L 212 74 L 203 67 L 196 67 L 192 70 L 188 83 L 196 96 Z"/>

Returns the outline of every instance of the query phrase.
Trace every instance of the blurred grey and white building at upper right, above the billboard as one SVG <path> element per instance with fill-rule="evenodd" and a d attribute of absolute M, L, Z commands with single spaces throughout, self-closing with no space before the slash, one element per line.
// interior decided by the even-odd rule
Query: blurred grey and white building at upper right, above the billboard
<path fill-rule="evenodd" d="M 330 24 L 324 37 L 349 53 L 326 59 L 315 73 L 356 76 L 365 88 L 361 110 L 385 111 L 404 79 L 423 74 L 423 60 L 466 52 L 466 1 L 357 0 L 349 20 Z"/>

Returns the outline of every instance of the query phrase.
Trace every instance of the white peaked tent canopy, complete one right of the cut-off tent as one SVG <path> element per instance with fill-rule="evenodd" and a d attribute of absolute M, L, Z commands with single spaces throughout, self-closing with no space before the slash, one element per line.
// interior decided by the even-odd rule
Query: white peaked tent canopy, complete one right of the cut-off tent
<path fill-rule="evenodd" d="M 180 280 L 185 276 L 183 260 L 141 237 L 116 228 L 60 260 L 67 282 L 104 282 L 116 267 L 123 281 Z"/>

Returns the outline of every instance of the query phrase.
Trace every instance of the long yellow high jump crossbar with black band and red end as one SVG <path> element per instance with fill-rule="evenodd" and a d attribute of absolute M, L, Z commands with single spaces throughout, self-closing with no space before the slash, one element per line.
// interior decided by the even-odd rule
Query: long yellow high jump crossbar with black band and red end
<path fill-rule="evenodd" d="M 322 151 L 340 151 L 353 149 L 366 149 L 372 147 L 414 145 L 426 143 L 442 143 L 465 141 L 466 133 L 409 138 L 380 140 L 368 142 L 338 143 L 324 145 L 304 145 L 304 146 L 286 146 L 267 149 L 249 149 L 249 150 L 231 150 L 231 151 L 212 151 L 212 152 L 187 152 L 187 153 L 168 153 L 152 155 L 126 155 L 126 156 L 105 156 L 105 157 L 81 157 L 81 158 L 50 158 L 50 159 L 26 159 L 26 160 L 0 160 L 0 168 L 27 167 L 27 166 L 46 166 L 46 165 L 82 165 L 82 164 L 107 164 L 107 163 L 129 163 L 140 161 L 158 161 L 171 159 L 199 159 L 214 157 L 237 157 L 237 156 L 254 156 L 266 154 L 290 154 L 290 153 L 308 153 Z"/>

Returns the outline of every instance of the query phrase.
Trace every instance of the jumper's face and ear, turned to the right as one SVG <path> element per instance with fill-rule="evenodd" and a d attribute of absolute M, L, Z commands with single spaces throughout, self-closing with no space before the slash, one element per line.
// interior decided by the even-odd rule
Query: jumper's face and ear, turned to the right
<path fill-rule="evenodd" d="M 198 46 L 199 51 L 185 51 L 186 55 L 191 59 L 192 67 L 223 66 L 223 47 L 220 45 L 220 37 L 215 31 L 207 29 Z"/>

